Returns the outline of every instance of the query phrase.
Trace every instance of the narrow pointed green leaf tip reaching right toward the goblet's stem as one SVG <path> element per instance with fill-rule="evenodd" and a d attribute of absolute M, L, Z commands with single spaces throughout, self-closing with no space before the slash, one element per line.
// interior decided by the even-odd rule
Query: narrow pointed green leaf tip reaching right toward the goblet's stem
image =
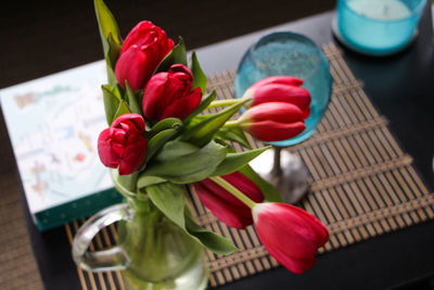
<path fill-rule="evenodd" d="M 217 166 L 213 176 L 227 175 L 237 172 L 269 148 L 270 147 L 264 147 L 244 152 L 228 153 L 226 159 Z"/>

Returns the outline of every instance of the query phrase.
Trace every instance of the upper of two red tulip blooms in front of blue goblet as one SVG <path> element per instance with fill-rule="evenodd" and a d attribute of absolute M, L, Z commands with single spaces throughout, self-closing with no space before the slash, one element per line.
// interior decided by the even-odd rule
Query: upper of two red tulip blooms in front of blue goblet
<path fill-rule="evenodd" d="M 272 76 L 252 85 L 245 96 L 252 97 L 250 105 L 265 102 L 285 102 L 295 104 L 309 115 L 310 93 L 299 87 L 303 80 L 292 76 Z"/>

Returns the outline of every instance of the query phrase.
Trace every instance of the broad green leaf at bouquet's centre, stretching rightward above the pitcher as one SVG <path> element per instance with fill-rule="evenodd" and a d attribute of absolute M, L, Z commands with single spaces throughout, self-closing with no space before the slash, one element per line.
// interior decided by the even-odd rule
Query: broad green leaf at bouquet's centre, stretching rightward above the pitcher
<path fill-rule="evenodd" d="M 162 150 L 161 153 L 163 153 Z M 227 149 L 210 141 L 194 153 L 164 161 L 156 157 L 144 172 L 146 176 L 158 176 L 174 184 L 190 184 L 208 177 L 224 161 Z M 158 154 L 159 155 L 159 154 Z"/>

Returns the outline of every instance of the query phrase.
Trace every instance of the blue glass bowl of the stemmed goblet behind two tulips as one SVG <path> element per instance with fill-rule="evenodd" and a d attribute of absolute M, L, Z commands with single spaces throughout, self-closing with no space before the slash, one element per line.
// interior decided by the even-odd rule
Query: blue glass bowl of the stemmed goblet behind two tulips
<path fill-rule="evenodd" d="M 241 98 L 254 83 L 279 75 L 296 76 L 311 94 L 306 129 L 298 136 L 273 146 L 288 147 L 311 137 L 326 112 L 332 90 L 330 65 L 322 50 L 309 38 L 290 33 L 272 33 L 260 38 L 242 58 L 235 75 L 235 94 Z"/>

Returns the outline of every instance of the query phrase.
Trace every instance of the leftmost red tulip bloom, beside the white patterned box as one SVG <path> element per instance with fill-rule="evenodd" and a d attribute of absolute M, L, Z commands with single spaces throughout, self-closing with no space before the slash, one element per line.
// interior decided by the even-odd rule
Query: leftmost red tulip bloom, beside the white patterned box
<path fill-rule="evenodd" d="M 136 172 L 146 156 L 148 141 L 143 137 L 144 119 L 129 113 L 116 118 L 98 138 L 98 154 L 110 167 L 119 167 L 119 175 Z"/>

